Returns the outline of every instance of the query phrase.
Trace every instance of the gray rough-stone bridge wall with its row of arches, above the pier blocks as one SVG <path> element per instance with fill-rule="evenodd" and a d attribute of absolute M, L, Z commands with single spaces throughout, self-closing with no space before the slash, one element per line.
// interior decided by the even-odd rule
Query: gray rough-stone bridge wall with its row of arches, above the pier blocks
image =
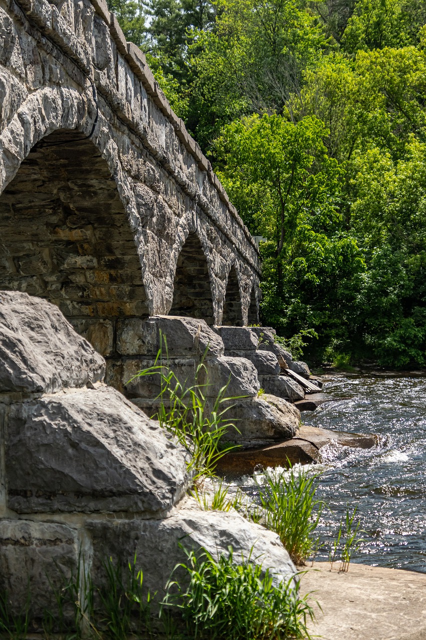
<path fill-rule="evenodd" d="M 114 367 L 135 318 L 258 322 L 256 244 L 104 0 L 0 0 L 0 289 Z"/>

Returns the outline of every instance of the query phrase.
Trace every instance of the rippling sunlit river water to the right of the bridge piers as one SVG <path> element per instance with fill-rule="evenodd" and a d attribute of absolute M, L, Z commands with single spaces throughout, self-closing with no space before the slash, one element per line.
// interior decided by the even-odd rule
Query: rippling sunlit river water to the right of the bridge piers
<path fill-rule="evenodd" d="M 379 445 L 323 450 L 315 470 L 329 509 L 317 559 L 328 559 L 340 520 L 358 506 L 365 541 L 356 562 L 426 573 L 426 378 L 337 376 L 323 390 L 332 400 L 304 412 L 305 424 L 376 433 Z"/>

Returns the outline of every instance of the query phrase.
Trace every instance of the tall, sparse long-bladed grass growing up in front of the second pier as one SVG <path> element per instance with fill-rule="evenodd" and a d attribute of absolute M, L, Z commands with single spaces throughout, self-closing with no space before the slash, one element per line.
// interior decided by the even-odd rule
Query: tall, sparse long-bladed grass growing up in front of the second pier
<path fill-rule="evenodd" d="M 217 462 L 227 452 L 237 448 L 237 445 L 223 444 L 230 431 L 238 431 L 235 422 L 226 418 L 226 413 L 232 408 L 230 402 L 237 398 L 226 395 L 229 380 L 215 398 L 207 397 L 206 392 L 211 386 L 204 362 L 207 350 L 196 367 L 194 384 L 181 382 L 169 367 L 164 336 L 162 342 L 164 349 L 161 345 L 155 364 L 139 371 L 130 381 L 143 376 L 159 376 L 161 390 L 156 398 L 159 403 L 153 417 L 191 452 L 187 469 L 196 483 L 203 476 L 215 476 Z M 166 358 L 163 357 L 163 350 Z M 206 379 L 207 383 L 200 383 L 201 378 Z"/>

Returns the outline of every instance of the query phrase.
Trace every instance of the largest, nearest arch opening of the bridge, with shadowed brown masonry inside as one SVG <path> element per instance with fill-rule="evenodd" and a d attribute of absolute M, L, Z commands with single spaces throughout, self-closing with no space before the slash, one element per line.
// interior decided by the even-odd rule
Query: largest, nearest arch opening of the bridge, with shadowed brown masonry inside
<path fill-rule="evenodd" d="M 45 136 L 0 195 L 0 289 L 58 305 L 106 358 L 121 357 L 118 319 L 148 316 L 116 182 L 83 134 Z"/>

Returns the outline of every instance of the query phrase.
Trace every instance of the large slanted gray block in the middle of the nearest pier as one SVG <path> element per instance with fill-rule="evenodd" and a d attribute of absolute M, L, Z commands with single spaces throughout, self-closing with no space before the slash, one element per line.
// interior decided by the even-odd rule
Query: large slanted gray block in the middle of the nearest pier
<path fill-rule="evenodd" d="M 112 388 L 14 404 L 8 505 L 37 511 L 162 511 L 190 484 L 186 452 Z"/>

